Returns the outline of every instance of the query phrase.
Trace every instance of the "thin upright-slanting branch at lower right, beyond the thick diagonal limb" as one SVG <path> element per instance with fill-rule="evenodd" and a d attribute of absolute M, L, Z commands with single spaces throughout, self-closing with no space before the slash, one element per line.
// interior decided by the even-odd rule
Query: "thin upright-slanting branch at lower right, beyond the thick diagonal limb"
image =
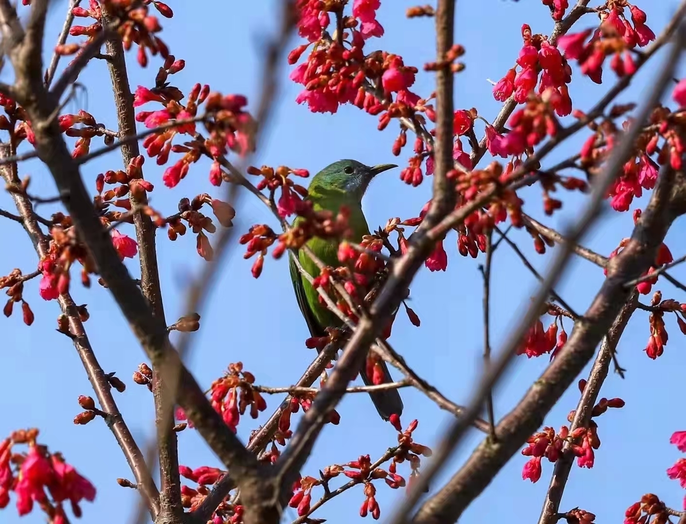
<path fill-rule="evenodd" d="M 586 387 L 584 388 L 584 392 L 582 393 L 576 411 L 574 412 L 574 419 L 569 428 L 570 433 L 578 427 L 588 427 L 589 422 L 591 421 L 593 406 L 595 406 L 595 402 L 598 401 L 600 388 L 607 378 L 610 362 L 613 360 L 617 343 L 619 342 L 619 339 L 622 338 L 624 329 L 626 328 L 631 315 L 636 310 L 637 301 L 638 292 L 634 290 L 631 293 L 631 297 L 626 304 L 624 304 L 624 307 L 612 323 L 610 329 L 608 329 L 606 336 L 603 337 L 602 343 L 600 344 L 600 351 L 598 351 L 598 355 L 595 357 L 595 362 L 593 362 L 591 373 L 589 373 Z M 562 351 L 567 351 L 567 348 L 563 347 Z M 550 479 L 550 486 L 548 487 L 547 494 L 545 495 L 539 524 L 555 524 L 557 522 L 560 501 L 562 500 L 562 495 L 565 490 L 565 485 L 567 484 L 567 478 L 569 478 L 569 473 L 571 472 L 574 458 L 574 454 L 571 451 L 571 442 L 568 440 L 563 447 L 562 456 L 555 462 L 555 469 L 552 478 Z"/>

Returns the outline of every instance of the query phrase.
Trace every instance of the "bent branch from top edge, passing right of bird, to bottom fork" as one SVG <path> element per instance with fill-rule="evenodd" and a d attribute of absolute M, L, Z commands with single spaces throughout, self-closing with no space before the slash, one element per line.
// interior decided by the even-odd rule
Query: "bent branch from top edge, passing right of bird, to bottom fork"
<path fill-rule="evenodd" d="M 455 1 L 439 0 L 436 10 L 437 62 L 445 63 L 445 55 L 453 45 Z M 346 343 L 327 384 L 317 395 L 311 408 L 301 419 L 289 446 L 276 463 L 277 481 L 281 486 L 282 501 L 314 445 L 329 413 L 345 393 L 348 383 L 357 375 L 372 342 L 379 336 L 383 325 L 400 305 L 416 271 L 434 249 L 434 241 L 425 231 L 438 223 L 456 203 L 456 192 L 447 173 L 453 169 L 453 73 L 449 66 L 436 73 L 436 173 L 434 198 L 423 224 L 412 234 L 410 247 L 397 264 L 393 265 L 388 281 L 372 303 L 369 314 L 362 317 L 357 329 Z"/>

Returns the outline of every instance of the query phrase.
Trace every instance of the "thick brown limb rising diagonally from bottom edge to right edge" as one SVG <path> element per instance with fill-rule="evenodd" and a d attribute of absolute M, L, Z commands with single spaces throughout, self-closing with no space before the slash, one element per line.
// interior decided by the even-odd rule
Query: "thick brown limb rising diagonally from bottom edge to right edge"
<path fill-rule="evenodd" d="M 683 173 L 665 169 L 628 245 L 609 262 L 607 279 L 591 307 L 576 322 L 565 349 L 517 407 L 499 423 L 497 445 L 482 442 L 448 484 L 423 504 L 413 522 L 456 521 L 523 442 L 540 427 L 545 414 L 591 359 L 596 345 L 628 301 L 630 292 L 624 287 L 624 282 L 650 267 L 667 229 L 684 213 L 686 177 Z"/>

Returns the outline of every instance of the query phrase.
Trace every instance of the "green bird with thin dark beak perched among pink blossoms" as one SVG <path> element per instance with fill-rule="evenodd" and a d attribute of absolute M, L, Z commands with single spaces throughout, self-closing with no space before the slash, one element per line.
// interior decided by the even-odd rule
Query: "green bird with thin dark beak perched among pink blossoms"
<path fill-rule="evenodd" d="M 339 160 L 325 167 L 314 175 L 309 185 L 307 200 L 311 201 L 315 211 L 329 210 L 337 213 L 342 205 L 350 210 L 348 225 L 353 231 L 351 240 L 359 242 L 362 237 L 369 234 L 369 226 L 362 212 L 362 197 L 372 178 L 379 173 L 397 167 L 394 164 L 379 164 L 377 166 L 366 166 L 356 160 Z M 301 217 L 296 218 L 294 225 L 302 221 Z M 324 264 L 331 267 L 340 265 L 338 262 L 338 245 L 336 239 L 311 238 L 306 243 L 307 247 Z M 298 251 L 298 260 L 312 277 L 317 277 L 320 273 L 316 263 L 309 258 L 305 250 Z M 305 322 L 309 332 L 313 337 L 326 336 L 326 327 L 340 327 L 342 322 L 326 305 L 319 301 L 318 292 L 307 282 L 307 279 L 298 271 L 293 255 L 289 253 L 289 266 L 291 279 L 296 292 L 296 299 L 300 311 L 305 317 Z M 381 362 L 383 366 L 384 382 L 392 382 L 392 377 L 388 371 L 386 362 Z M 364 366 L 360 370 L 364 384 L 372 384 L 370 377 L 366 375 Z M 382 390 L 370 392 L 372 402 L 377 408 L 379 415 L 388 421 L 392 414 L 401 415 L 403 412 L 403 401 L 398 390 Z"/>

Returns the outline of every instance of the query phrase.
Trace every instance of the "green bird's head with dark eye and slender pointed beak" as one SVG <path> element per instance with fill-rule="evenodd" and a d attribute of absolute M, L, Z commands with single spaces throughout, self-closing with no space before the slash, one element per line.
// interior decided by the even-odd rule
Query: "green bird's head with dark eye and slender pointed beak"
<path fill-rule="evenodd" d="M 362 201 L 367 186 L 379 173 L 397 167 L 395 164 L 379 164 L 366 166 L 357 160 L 338 160 L 329 164 L 322 171 L 314 175 L 309 184 L 312 197 L 325 197 L 333 194 L 346 194 L 351 198 Z"/>

